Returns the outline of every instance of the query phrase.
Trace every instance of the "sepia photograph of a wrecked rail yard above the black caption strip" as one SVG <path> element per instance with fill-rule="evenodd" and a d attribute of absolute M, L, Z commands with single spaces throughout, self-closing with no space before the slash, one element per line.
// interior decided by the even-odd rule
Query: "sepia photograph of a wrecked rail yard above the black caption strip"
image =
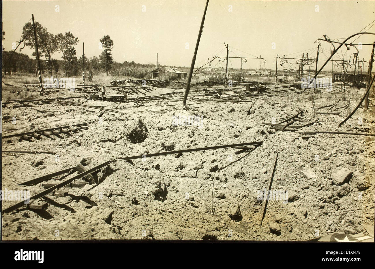
<path fill-rule="evenodd" d="M 1 243 L 374 242 L 375 1 L 1 4 Z"/>

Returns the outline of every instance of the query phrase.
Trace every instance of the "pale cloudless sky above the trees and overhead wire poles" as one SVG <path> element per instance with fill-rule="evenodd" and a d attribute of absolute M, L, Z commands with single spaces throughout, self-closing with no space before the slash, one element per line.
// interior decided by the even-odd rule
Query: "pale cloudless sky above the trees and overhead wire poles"
<path fill-rule="evenodd" d="M 99 56 L 99 39 L 108 34 L 114 42 L 113 57 L 117 62 L 156 64 L 158 53 L 159 64 L 190 66 L 205 0 L 5 0 L 2 4 L 3 46 L 7 51 L 20 40 L 22 27 L 33 13 L 50 33 L 71 31 L 78 37 L 78 58 L 83 53 L 83 42 L 86 57 Z M 229 44 L 229 56 L 266 59 L 265 64 L 263 60 L 248 59 L 243 68 L 275 69 L 276 54 L 299 57 L 305 51 L 315 57 L 318 43 L 314 42 L 323 34 L 342 42 L 342 38 L 374 24 L 374 12 L 375 1 L 364 0 L 210 0 L 195 66 L 203 65 L 214 55 L 225 56 L 223 43 Z M 375 26 L 369 32 L 375 33 Z M 364 34 L 355 43 L 374 41 L 374 35 Z M 325 41 L 320 43 L 320 58 L 326 58 L 332 46 Z M 363 46 L 359 59 L 368 61 L 371 49 L 372 46 Z M 354 47 L 347 51 L 343 46 L 334 58 L 349 59 L 354 52 Z M 32 51 L 24 48 L 22 53 L 31 56 Z M 61 54 L 54 57 L 60 59 Z M 217 60 L 214 65 L 225 66 Z M 231 59 L 228 66 L 239 68 L 241 60 Z M 295 69 L 297 64 L 278 66 L 287 67 Z M 332 64 L 327 64 L 326 69 L 331 70 Z"/>

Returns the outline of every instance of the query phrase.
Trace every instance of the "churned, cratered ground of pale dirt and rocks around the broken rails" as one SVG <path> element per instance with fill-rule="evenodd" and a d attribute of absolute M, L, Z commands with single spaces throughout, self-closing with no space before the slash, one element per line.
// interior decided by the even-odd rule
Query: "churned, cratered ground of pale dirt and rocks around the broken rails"
<path fill-rule="evenodd" d="M 44 114 L 37 118 L 37 111 L 18 108 L 17 117 L 25 115 L 17 121 L 19 126 L 29 126 L 29 119 L 35 128 L 46 121 L 51 121 L 51 127 L 69 125 L 77 118 L 92 124 L 72 137 L 43 137 L 37 144 L 3 141 L 6 149 L 35 150 L 37 146 L 59 155 L 58 161 L 55 155 L 3 158 L 2 180 L 8 190 L 21 190 L 26 186 L 21 188 L 17 185 L 20 182 L 78 163 L 90 169 L 118 157 L 260 140 L 264 144 L 245 151 L 228 148 L 117 160 L 98 172 L 99 184 L 65 188 L 71 196 L 48 196 L 52 201 L 45 210 L 48 214 L 23 209 L 4 218 L 3 239 L 304 241 L 316 238 L 317 230 L 320 236 L 363 232 L 363 224 L 374 225 L 374 139 L 320 134 L 305 140 L 298 132 L 276 132 L 262 126 L 272 118 L 279 121 L 281 109 L 296 113 L 298 106 L 306 109 L 306 118 L 317 121 L 304 131 L 326 130 L 341 120 L 339 115 L 315 118 L 308 99 L 293 100 L 256 100 L 250 113 L 249 103 L 208 102 L 185 110 L 177 102 L 158 101 L 146 105 L 166 105 L 166 109 L 146 112 L 144 107 L 134 108 L 128 103 L 87 101 L 91 105 L 125 106 L 121 111 L 126 114 L 104 112 L 100 120 L 95 113 L 65 111 L 60 105 L 53 107 L 55 118 Z M 327 100 L 321 106 L 329 104 Z M 50 110 L 52 105 L 43 104 L 40 109 Z M 5 108 L 4 112 L 13 117 L 12 109 Z M 203 118 L 201 126 L 172 124 L 173 116 L 193 113 Z M 356 113 L 356 117 L 367 120 L 369 132 L 373 132 L 372 114 L 360 109 Z M 356 125 L 353 118 L 340 130 L 357 132 Z M 4 126 L 10 127 L 11 123 Z M 266 188 L 275 151 L 279 157 L 271 191 L 278 199 L 268 201 L 259 226 L 259 197 Z M 26 189 L 31 193 L 44 190 L 41 184 Z M 80 198 L 96 205 L 87 208 Z M 12 203 L 3 201 L 3 207 Z M 55 236 L 56 229 L 60 237 Z"/>

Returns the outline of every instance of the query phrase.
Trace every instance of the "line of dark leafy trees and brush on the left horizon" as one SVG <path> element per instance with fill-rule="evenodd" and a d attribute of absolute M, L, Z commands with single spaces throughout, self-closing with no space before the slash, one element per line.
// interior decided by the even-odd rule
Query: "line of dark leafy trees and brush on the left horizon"
<path fill-rule="evenodd" d="M 35 23 L 37 32 L 37 44 L 39 51 L 40 65 L 43 73 L 49 75 L 57 75 L 57 72 L 65 76 L 81 75 L 83 71 L 83 55 L 77 58 L 77 46 L 79 39 L 75 37 L 70 31 L 58 34 L 52 34 L 47 31 L 39 22 Z M 25 46 L 28 46 L 32 51 L 32 56 L 35 57 L 35 40 L 33 34 L 33 25 L 27 22 L 23 27 L 21 39 L 24 38 Z M 5 39 L 5 31 L 3 31 L 3 40 Z M 134 61 L 123 63 L 114 62 L 112 51 L 114 42 L 109 35 L 104 36 L 100 41 L 100 49 L 102 53 L 98 57 L 85 57 L 86 74 L 107 73 L 110 75 L 121 76 L 136 76 L 144 77 L 145 74 L 154 68 L 154 64 L 140 64 Z M 21 49 L 22 50 L 22 49 Z M 20 52 L 5 51 L 3 48 L 2 66 L 3 72 L 10 74 L 15 72 L 35 73 L 37 74 L 37 63 L 35 58 L 30 58 L 26 54 Z M 13 54 L 12 54 L 13 53 Z M 54 55 L 62 54 L 62 60 L 56 60 Z M 10 57 L 12 55 L 12 57 Z M 8 60 L 9 59 L 9 60 Z M 162 67 L 162 66 L 160 66 Z"/>

